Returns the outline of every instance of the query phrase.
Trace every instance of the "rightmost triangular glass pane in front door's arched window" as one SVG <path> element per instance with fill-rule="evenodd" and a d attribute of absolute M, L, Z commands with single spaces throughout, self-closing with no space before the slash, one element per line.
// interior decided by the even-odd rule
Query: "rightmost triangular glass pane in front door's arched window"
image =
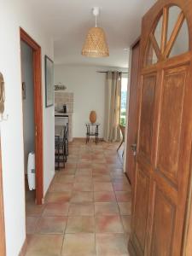
<path fill-rule="evenodd" d="M 185 19 L 183 21 L 183 26 L 181 27 L 177 35 L 177 39 L 173 44 L 172 51 L 169 57 L 181 55 L 187 51 L 189 51 L 189 32 L 188 32 L 187 21 Z"/>

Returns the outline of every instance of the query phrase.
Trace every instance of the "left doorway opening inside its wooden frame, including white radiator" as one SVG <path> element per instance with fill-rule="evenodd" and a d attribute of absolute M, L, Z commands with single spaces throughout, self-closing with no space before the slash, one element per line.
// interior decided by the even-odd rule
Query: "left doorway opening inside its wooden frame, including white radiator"
<path fill-rule="evenodd" d="M 32 47 L 20 42 L 26 204 L 35 201 L 35 120 Z M 30 163 L 31 162 L 31 163 Z"/>

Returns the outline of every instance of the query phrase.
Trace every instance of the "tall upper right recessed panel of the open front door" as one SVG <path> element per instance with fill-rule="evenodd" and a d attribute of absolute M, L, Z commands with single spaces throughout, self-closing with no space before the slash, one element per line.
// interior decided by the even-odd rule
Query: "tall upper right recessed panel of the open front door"
<path fill-rule="evenodd" d="M 179 154 L 182 140 L 183 101 L 188 67 L 168 69 L 164 73 L 160 110 L 160 132 L 156 172 L 161 172 L 176 187 L 178 185 Z M 177 101 L 177 102 L 176 102 Z M 170 103 L 172 102 L 172 104 Z M 175 116 L 177 115 L 177 117 Z M 174 126 L 172 133 L 167 125 Z"/>

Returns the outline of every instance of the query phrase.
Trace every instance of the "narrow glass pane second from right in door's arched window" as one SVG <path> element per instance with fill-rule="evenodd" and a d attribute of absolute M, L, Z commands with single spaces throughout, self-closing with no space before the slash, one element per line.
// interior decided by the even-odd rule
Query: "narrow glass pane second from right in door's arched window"
<path fill-rule="evenodd" d="M 176 5 L 170 7 L 169 9 L 169 20 L 168 20 L 168 28 L 167 28 L 167 42 L 172 34 L 172 30 L 176 25 L 178 15 L 181 13 L 181 9 Z"/>

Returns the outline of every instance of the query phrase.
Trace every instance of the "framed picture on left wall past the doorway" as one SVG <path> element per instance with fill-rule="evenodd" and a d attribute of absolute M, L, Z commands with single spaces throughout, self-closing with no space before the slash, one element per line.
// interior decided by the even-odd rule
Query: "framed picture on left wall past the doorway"
<path fill-rule="evenodd" d="M 54 104 L 54 62 L 47 55 L 45 61 L 45 107 L 49 108 Z"/>

